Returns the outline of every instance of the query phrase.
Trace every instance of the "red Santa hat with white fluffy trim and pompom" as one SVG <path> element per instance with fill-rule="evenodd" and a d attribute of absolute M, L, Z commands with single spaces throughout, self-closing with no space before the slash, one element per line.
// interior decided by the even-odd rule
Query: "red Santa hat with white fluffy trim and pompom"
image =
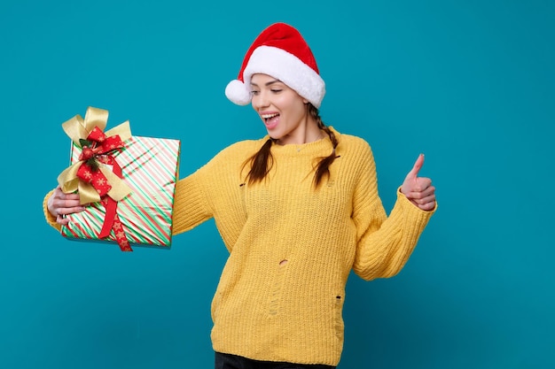
<path fill-rule="evenodd" d="M 309 45 L 299 31 L 285 23 L 275 23 L 256 37 L 246 51 L 237 80 L 225 88 L 225 96 L 235 104 L 249 104 L 254 73 L 284 82 L 317 108 L 324 98 L 325 83 Z"/>

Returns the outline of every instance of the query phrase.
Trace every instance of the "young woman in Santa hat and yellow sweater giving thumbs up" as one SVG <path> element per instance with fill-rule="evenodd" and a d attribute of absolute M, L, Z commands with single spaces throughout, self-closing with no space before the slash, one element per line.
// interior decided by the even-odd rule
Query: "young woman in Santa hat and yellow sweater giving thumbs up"
<path fill-rule="evenodd" d="M 226 96 L 252 103 L 268 135 L 232 144 L 176 184 L 173 233 L 214 218 L 230 252 L 212 304 L 216 368 L 338 365 L 350 271 L 367 281 L 398 273 L 435 211 L 420 156 L 387 217 L 370 146 L 324 125 L 324 94 L 299 32 L 266 28 Z M 84 210 L 59 188 L 44 209 L 58 228 Z"/>

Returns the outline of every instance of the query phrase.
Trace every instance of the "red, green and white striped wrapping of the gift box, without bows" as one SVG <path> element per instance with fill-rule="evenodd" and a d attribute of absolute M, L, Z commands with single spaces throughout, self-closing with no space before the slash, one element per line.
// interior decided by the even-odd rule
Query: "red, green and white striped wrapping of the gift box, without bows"
<path fill-rule="evenodd" d="M 118 202 L 117 214 L 131 244 L 169 247 L 179 165 L 179 140 L 131 136 L 125 148 L 113 153 L 131 193 Z M 72 142 L 71 164 L 81 148 Z M 116 242 L 113 231 L 99 240 L 106 215 L 101 203 L 68 215 L 61 234 L 72 239 Z"/>

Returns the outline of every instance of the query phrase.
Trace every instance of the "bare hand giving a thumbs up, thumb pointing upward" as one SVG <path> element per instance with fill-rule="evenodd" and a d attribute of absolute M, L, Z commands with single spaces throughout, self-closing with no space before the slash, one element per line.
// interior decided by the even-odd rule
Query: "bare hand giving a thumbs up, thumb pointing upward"
<path fill-rule="evenodd" d="M 416 163 L 405 177 L 401 192 L 418 208 L 431 211 L 435 207 L 435 188 L 429 178 L 418 177 L 422 165 L 424 165 L 424 154 L 418 156 Z"/>

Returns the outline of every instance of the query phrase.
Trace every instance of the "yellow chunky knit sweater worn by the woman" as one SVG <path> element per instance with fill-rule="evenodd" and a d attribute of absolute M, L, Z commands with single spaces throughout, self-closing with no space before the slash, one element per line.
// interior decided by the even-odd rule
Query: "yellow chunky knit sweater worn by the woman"
<path fill-rule="evenodd" d="M 414 250 L 434 211 L 397 191 L 387 217 L 369 145 L 334 132 L 339 158 L 318 189 L 313 167 L 332 152 L 328 138 L 274 144 L 269 178 L 253 186 L 240 169 L 267 137 L 235 143 L 177 182 L 173 234 L 214 218 L 230 252 L 212 303 L 214 350 L 338 365 L 349 272 L 391 277 Z"/>

